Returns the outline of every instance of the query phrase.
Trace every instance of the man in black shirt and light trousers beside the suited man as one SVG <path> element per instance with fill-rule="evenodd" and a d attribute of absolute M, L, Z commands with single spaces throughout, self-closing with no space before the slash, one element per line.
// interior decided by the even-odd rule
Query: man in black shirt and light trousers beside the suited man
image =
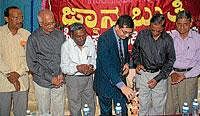
<path fill-rule="evenodd" d="M 175 61 L 173 39 L 164 31 L 164 24 L 164 16 L 155 14 L 149 29 L 138 33 L 132 50 L 141 116 L 164 114 L 167 78 Z"/>

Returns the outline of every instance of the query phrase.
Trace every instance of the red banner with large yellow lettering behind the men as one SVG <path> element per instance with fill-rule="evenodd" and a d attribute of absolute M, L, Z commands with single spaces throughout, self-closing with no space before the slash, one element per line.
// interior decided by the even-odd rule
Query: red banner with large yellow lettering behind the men
<path fill-rule="evenodd" d="M 166 30 L 175 28 L 176 14 L 184 9 L 192 13 L 194 26 L 200 26 L 199 0 L 43 0 L 42 5 L 53 11 L 61 28 L 80 22 L 94 39 L 113 26 L 120 15 L 128 14 L 136 30 L 129 44 L 133 44 L 137 31 L 150 24 L 155 13 L 166 17 Z"/>

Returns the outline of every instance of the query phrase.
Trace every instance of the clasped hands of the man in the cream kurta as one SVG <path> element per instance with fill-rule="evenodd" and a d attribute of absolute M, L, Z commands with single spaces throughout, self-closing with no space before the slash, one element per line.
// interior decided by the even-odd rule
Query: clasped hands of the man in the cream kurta
<path fill-rule="evenodd" d="M 20 82 L 19 82 L 19 77 L 20 75 L 17 72 L 10 72 L 7 74 L 7 79 L 10 83 L 12 83 L 16 89 L 16 91 L 20 90 Z"/>

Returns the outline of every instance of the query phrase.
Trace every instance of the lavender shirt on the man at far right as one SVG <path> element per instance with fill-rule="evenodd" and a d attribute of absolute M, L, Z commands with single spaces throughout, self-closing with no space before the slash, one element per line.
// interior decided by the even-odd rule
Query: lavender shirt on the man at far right
<path fill-rule="evenodd" d="M 182 39 L 177 30 L 170 32 L 174 40 L 176 61 L 174 68 L 187 69 L 186 78 L 195 77 L 200 74 L 200 34 L 196 31 L 189 31 L 188 37 Z"/>

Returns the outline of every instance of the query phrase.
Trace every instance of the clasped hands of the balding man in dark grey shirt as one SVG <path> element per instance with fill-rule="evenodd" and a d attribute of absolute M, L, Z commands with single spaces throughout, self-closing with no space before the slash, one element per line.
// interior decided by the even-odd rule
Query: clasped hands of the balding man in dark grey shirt
<path fill-rule="evenodd" d="M 52 78 L 51 83 L 56 87 L 59 88 L 64 83 L 63 75 L 58 75 Z"/>

